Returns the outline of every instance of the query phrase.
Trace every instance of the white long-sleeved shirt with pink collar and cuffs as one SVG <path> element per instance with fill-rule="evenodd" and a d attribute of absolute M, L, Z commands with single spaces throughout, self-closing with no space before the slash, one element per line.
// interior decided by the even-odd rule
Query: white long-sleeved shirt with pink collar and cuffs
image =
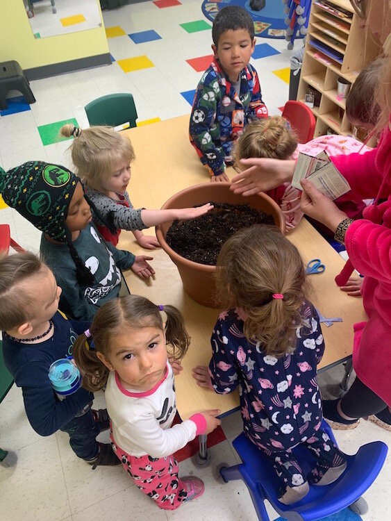
<path fill-rule="evenodd" d="M 110 372 L 105 397 L 115 443 L 131 456 L 170 456 L 205 431 L 206 422 L 198 414 L 171 427 L 176 400 L 169 363 L 164 379 L 146 392 L 126 390 L 117 373 Z"/>

